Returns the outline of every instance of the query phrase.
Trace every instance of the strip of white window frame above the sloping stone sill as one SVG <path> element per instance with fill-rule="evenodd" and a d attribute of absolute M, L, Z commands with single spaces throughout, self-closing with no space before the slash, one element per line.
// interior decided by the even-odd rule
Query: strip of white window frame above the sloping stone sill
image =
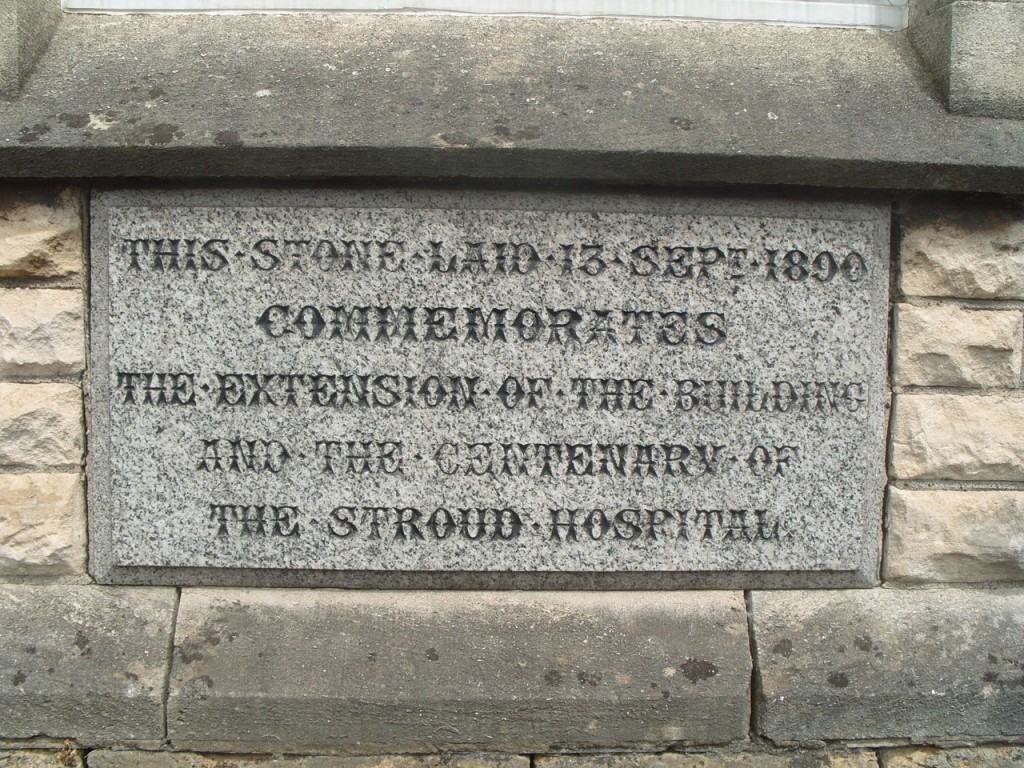
<path fill-rule="evenodd" d="M 92 12 L 434 11 L 649 16 L 900 30 L 907 0 L 62 0 Z"/>

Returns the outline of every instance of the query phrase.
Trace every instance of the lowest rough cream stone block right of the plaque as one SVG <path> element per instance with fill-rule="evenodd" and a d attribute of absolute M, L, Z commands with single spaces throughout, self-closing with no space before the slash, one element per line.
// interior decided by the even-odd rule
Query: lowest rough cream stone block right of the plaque
<path fill-rule="evenodd" d="M 889 490 L 885 578 L 1024 581 L 1024 494 Z"/>

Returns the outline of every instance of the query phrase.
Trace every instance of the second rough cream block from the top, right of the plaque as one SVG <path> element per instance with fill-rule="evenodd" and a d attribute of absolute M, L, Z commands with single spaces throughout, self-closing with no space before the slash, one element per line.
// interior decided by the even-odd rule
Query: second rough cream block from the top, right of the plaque
<path fill-rule="evenodd" d="M 901 304 L 897 384 L 1014 387 L 1021 381 L 1021 313 Z"/>

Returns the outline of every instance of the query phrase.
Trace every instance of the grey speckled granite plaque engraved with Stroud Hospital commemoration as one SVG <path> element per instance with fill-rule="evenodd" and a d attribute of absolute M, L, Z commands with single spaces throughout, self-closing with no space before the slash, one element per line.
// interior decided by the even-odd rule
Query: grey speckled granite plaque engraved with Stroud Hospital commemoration
<path fill-rule="evenodd" d="M 98 194 L 94 572 L 869 584 L 888 245 L 868 205 Z"/>

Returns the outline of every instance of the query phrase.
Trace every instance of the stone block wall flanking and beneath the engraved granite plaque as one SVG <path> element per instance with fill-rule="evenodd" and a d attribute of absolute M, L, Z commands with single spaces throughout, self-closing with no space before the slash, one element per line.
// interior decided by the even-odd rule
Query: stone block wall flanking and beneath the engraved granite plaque
<path fill-rule="evenodd" d="M 0 766 L 1024 765 L 1019 203 L 894 201 L 876 588 L 417 593 L 91 583 L 87 200 L 0 191 Z"/>

